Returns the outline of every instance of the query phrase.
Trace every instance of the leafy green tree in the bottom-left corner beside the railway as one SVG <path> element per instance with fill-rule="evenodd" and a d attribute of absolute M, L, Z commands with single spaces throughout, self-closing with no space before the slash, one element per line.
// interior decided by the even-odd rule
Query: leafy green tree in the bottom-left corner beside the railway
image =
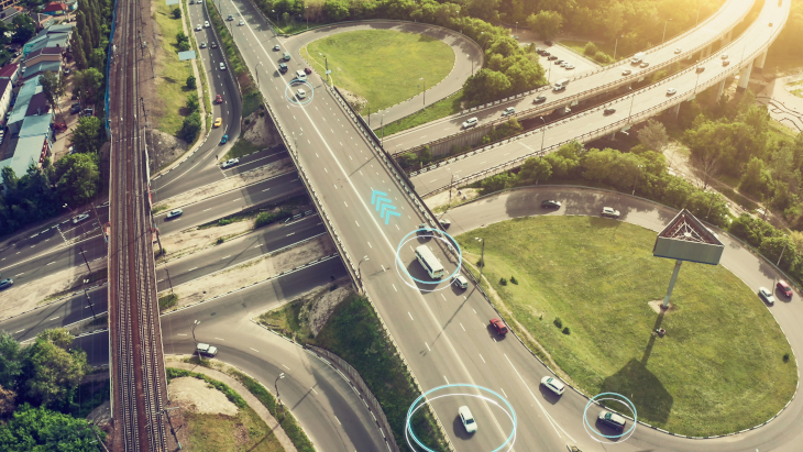
<path fill-rule="evenodd" d="M 101 440 L 106 433 L 100 432 Z M 25 404 L 0 427 L 0 450 L 6 452 L 97 452 L 98 444 L 86 419 L 33 408 Z"/>

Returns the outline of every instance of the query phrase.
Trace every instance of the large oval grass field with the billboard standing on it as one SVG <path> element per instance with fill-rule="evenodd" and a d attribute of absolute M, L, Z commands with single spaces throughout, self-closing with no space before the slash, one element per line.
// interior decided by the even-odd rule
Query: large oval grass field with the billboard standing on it
<path fill-rule="evenodd" d="M 458 238 L 472 263 L 475 236 L 486 240 L 488 280 L 560 368 L 587 394 L 630 397 L 645 422 L 729 433 L 765 422 L 795 390 L 787 339 L 724 267 L 684 263 L 674 307 L 660 316 L 648 305 L 663 299 L 674 266 L 652 256 L 652 231 L 588 217 L 505 221 Z M 517 285 L 499 283 L 512 276 Z M 651 334 L 659 327 L 664 338 Z"/>

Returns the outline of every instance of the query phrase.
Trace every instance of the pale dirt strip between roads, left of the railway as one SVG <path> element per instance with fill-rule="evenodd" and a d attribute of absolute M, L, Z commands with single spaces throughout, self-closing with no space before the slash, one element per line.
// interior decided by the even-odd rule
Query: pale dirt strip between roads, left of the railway
<path fill-rule="evenodd" d="M 106 265 L 106 257 L 91 263 L 94 269 L 105 268 Z M 37 308 L 42 306 L 42 300 L 54 294 L 70 290 L 70 287 L 74 291 L 79 290 L 79 287 L 76 287 L 76 285 L 88 273 L 86 265 L 81 262 L 80 265 L 76 265 L 73 268 L 36 278 L 31 283 L 11 286 L 0 293 L 0 319 L 8 319 L 9 317 Z M 91 283 L 90 285 L 95 284 L 97 283 Z"/>

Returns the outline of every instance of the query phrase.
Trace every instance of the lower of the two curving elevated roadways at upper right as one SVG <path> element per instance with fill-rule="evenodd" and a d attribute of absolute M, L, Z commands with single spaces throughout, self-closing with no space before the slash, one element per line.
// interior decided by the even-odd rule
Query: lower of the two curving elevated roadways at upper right
<path fill-rule="evenodd" d="M 654 85 L 546 128 L 503 140 L 411 173 L 411 180 L 417 191 L 426 197 L 447 190 L 452 184 L 452 176 L 451 186 L 462 186 L 520 166 L 525 159 L 552 152 L 561 144 L 574 140 L 590 142 L 622 131 L 670 108 L 673 108 L 676 114 L 682 102 L 693 99 L 697 92 L 706 88 L 718 84 L 716 89 L 721 96 L 725 79 L 736 74 L 739 74 L 739 87 L 744 89 L 747 87 L 752 67 L 763 66 L 767 49 L 778 37 L 789 10 L 789 1 L 780 5 L 777 2 L 766 2 L 758 19 L 736 41 L 698 63 L 698 66 L 705 67 L 702 73 L 696 71 L 694 66 L 689 67 Z M 728 59 L 733 63 L 723 66 L 722 55 L 728 55 Z M 668 95 L 669 88 L 676 89 L 676 93 Z M 603 110 L 608 107 L 616 108 L 616 112 L 605 115 Z"/>

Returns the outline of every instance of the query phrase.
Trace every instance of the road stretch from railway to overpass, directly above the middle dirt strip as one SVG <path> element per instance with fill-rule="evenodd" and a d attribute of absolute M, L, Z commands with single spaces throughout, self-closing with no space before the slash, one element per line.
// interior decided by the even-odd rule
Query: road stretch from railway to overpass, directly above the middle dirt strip
<path fill-rule="evenodd" d="M 167 220 L 167 212 L 160 213 L 154 216 L 154 222 L 160 233 L 167 235 L 240 212 L 261 202 L 278 199 L 299 189 L 304 189 L 304 185 L 298 180 L 298 174 L 290 173 L 183 207 L 184 213 L 180 217 Z"/>

